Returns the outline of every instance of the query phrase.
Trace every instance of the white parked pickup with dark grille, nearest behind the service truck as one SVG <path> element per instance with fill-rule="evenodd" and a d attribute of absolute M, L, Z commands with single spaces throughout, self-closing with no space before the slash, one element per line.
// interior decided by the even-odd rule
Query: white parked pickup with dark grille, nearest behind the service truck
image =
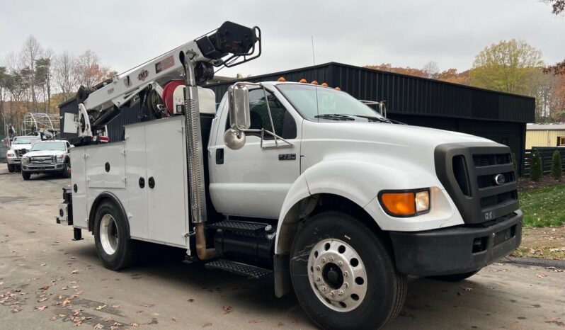
<path fill-rule="evenodd" d="M 34 173 L 61 173 L 71 176 L 69 150 L 72 144 L 64 140 L 35 142 L 30 151 L 21 159 L 21 176 L 29 180 Z"/>

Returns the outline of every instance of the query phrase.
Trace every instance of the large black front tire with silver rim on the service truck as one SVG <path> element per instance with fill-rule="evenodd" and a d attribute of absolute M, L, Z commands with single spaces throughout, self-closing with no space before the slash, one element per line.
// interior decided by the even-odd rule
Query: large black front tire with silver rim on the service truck
<path fill-rule="evenodd" d="M 341 212 L 320 213 L 299 229 L 290 277 L 300 305 L 322 329 L 379 329 L 406 299 L 406 275 L 396 271 L 383 240 Z"/>

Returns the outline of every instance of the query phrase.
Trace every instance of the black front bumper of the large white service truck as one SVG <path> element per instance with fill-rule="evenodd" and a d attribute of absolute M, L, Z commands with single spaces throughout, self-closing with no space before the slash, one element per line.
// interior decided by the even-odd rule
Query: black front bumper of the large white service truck
<path fill-rule="evenodd" d="M 396 268 L 420 276 L 476 271 L 520 246 L 522 218 L 518 210 L 483 225 L 390 232 Z"/>

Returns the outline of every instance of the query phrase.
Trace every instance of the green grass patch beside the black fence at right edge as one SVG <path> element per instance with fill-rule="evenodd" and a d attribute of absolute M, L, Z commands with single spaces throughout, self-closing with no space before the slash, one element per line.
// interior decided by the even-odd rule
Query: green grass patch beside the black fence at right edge
<path fill-rule="evenodd" d="M 565 225 L 565 184 L 520 193 L 524 227 L 561 227 Z"/>

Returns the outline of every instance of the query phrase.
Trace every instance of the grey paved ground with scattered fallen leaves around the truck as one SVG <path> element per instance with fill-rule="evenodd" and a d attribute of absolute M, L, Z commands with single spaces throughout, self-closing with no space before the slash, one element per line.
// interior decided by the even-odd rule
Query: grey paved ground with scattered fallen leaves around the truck
<path fill-rule="evenodd" d="M 67 179 L 23 181 L 0 165 L 0 329 L 315 329 L 271 279 L 186 263 L 106 270 L 90 234 L 72 241 L 55 224 Z M 565 273 L 498 263 L 462 283 L 411 278 L 387 329 L 565 329 Z"/>

